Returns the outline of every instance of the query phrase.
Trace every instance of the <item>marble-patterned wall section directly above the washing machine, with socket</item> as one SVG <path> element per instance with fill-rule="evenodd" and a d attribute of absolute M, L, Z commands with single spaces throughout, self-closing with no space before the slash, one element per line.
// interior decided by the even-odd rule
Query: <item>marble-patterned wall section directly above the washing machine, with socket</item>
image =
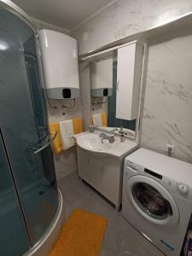
<path fill-rule="evenodd" d="M 158 43 L 158 41 L 161 43 Z M 162 42 L 148 52 L 142 145 L 192 163 L 192 34 Z"/>

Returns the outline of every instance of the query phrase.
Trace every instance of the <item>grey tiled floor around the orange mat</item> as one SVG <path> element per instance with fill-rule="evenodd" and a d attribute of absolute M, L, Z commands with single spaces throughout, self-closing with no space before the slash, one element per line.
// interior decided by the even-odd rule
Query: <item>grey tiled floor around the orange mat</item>
<path fill-rule="evenodd" d="M 108 218 L 108 228 L 102 243 L 101 256 L 163 256 L 164 254 L 115 212 L 113 206 L 89 185 L 80 181 L 76 173 L 59 183 L 66 204 L 66 215 L 75 208 L 101 214 Z M 89 256 L 89 255 L 86 255 Z"/>

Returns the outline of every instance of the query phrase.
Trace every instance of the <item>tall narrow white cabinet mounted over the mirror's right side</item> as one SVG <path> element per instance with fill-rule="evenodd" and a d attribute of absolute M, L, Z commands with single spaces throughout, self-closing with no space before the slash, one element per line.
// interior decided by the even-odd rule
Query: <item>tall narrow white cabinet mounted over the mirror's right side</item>
<path fill-rule="evenodd" d="M 116 118 L 137 119 L 143 45 L 133 42 L 118 49 Z"/>

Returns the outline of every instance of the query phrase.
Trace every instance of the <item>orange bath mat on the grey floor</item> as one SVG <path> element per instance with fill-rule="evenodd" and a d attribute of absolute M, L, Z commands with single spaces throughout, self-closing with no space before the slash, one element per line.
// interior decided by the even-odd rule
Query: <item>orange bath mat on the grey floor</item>
<path fill-rule="evenodd" d="M 107 224 L 95 213 L 74 210 L 48 256 L 98 256 Z"/>

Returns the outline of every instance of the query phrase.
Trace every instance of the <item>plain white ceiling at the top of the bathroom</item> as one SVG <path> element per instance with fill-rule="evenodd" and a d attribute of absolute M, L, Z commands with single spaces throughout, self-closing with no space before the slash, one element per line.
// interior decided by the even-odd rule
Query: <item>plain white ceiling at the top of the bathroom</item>
<path fill-rule="evenodd" d="M 12 0 L 32 18 L 72 30 L 114 0 Z"/>

